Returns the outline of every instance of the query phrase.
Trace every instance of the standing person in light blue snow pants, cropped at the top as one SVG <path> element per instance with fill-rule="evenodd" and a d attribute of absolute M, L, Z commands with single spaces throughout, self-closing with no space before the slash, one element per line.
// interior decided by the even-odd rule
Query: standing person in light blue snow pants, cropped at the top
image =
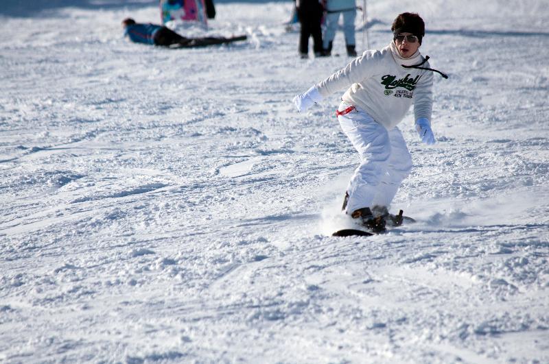
<path fill-rule="evenodd" d="M 343 32 L 347 56 L 356 57 L 355 49 L 355 0 L 327 0 L 326 3 L 326 27 L 323 34 L 323 49 L 326 56 L 331 55 L 331 48 L 336 36 L 336 29 L 340 15 L 343 15 Z"/>

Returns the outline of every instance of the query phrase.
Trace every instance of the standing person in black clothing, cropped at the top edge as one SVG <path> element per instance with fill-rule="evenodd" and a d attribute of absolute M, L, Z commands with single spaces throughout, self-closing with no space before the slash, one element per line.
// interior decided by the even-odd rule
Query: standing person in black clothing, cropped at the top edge
<path fill-rule="evenodd" d="M 313 37 L 314 55 L 323 56 L 322 30 L 320 23 L 324 12 L 320 0 L 296 0 L 297 17 L 301 23 L 299 53 L 301 58 L 309 58 L 309 36 Z"/>

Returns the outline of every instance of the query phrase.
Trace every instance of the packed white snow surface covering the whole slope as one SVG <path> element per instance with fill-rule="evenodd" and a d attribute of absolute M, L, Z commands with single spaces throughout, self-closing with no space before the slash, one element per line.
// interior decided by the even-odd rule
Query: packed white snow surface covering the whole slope
<path fill-rule="evenodd" d="M 399 125 L 418 223 L 336 238 L 344 90 L 291 100 L 350 61 L 341 31 L 301 60 L 291 1 L 220 0 L 178 32 L 248 40 L 170 50 L 122 37 L 156 1 L 3 0 L 0 361 L 548 363 L 546 1 L 367 5 L 360 51 L 419 12 L 449 80 L 436 145 Z"/>

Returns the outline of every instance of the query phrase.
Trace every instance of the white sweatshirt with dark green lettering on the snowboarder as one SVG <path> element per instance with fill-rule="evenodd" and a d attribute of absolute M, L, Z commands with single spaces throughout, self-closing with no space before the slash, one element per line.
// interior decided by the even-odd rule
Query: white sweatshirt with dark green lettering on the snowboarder
<path fill-rule="evenodd" d="M 404 119 L 414 104 L 415 120 L 432 113 L 432 71 L 405 68 L 423 61 L 417 51 L 410 58 L 401 58 L 394 42 L 381 51 L 364 51 L 326 80 L 316 84 L 322 97 L 329 97 L 349 87 L 342 100 L 362 108 L 387 130 Z M 428 62 L 421 66 L 429 67 Z"/>

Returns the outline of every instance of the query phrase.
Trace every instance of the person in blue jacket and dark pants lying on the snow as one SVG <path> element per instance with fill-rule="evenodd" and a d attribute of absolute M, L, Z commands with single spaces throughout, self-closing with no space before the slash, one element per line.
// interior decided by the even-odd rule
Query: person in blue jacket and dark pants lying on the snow
<path fill-rule="evenodd" d="M 128 37 L 132 42 L 170 48 L 205 47 L 207 45 L 220 45 L 237 40 L 246 40 L 246 36 L 232 38 L 185 38 L 163 25 L 135 23 L 135 20 L 131 18 L 124 19 L 122 27 L 124 28 L 124 36 Z"/>

